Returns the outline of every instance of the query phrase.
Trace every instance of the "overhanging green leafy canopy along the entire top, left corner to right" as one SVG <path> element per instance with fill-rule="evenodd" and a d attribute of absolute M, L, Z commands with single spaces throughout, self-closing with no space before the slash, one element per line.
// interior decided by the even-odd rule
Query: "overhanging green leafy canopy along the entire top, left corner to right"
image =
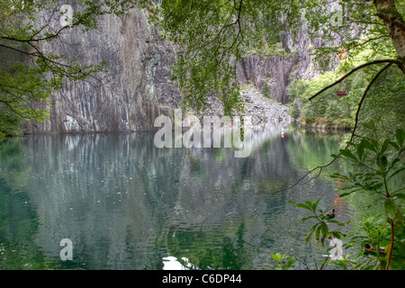
<path fill-rule="evenodd" d="M 85 79 L 100 71 L 102 65 L 82 65 L 77 59 L 44 51 L 41 43 L 58 39 L 74 27 L 94 29 L 99 16 L 122 16 L 135 4 L 148 8 L 159 31 L 175 44 L 174 77 L 182 87 L 184 106 L 197 111 L 207 107 L 206 95 L 211 93 L 224 103 L 226 114 L 243 111 L 238 61 L 250 51 L 287 57 L 281 37 L 296 35 L 302 25 L 308 26 L 311 39 L 322 38 L 320 47 L 311 49 L 320 68 L 343 52 L 349 56 L 346 68 L 353 66 L 351 59 L 365 48 L 373 51 L 369 60 L 377 54 L 404 57 L 396 45 L 401 37 L 394 39 L 386 20 L 386 14 L 392 13 L 390 19 L 396 17 L 401 27 L 405 5 L 399 0 L 345 1 L 333 7 L 328 1 L 318 0 L 83 0 L 66 26 L 52 24 L 67 16 L 59 12 L 57 0 L 1 0 L 0 104 L 21 118 L 43 121 L 49 116 L 49 94 L 60 87 L 63 79 Z M 391 10 L 382 10 L 382 4 L 390 4 Z M 49 21 L 38 24 L 40 15 L 49 15 Z M 352 35 L 354 27 L 356 35 Z M 396 64 L 401 66 L 401 60 Z M 373 68 L 369 70 L 373 72 Z M 329 114 L 338 117 L 334 110 L 329 109 Z"/>

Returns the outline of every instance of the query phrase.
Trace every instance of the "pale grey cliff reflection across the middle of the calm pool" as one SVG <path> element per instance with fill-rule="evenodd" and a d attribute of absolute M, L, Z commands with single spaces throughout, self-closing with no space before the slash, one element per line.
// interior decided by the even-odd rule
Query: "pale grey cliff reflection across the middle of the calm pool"
<path fill-rule="evenodd" d="M 166 256 L 202 268 L 262 268 L 301 233 L 286 202 L 333 189 L 318 182 L 270 194 L 300 175 L 297 136 L 284 130 L 282 138 L 282 130 L 257 134 L 247 158 L 225 148 L 158 149 L 150 133 L 29 137 L 35 242 L 58 260 L 60 240 L 70 238 L 70 265 L 88 269 L 160 269 Z"/>

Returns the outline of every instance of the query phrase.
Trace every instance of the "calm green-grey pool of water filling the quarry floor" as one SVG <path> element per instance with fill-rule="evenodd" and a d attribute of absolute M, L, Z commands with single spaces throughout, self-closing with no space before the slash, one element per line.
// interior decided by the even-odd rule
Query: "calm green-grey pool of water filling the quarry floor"
<path fill-rule="evenodd" d="M 282 137 L 282 131 L 285 132 Z M 0 269 L 266 269 L 277 252 L 319 268 L 325 248 L 289 200 L 322 197 L 347 218 L 335 181 L 295 183 L 340 137 L 272 124 L 249 157 L 231 148 L 155 148 L 153 133 L 36 135 L 0 143 Z M 73 260 L 60 259 L 72 241 Z M 184 260 L 182 260 L 184 258 Z M 175 260 L 176 259 L 176 260 Z M 171 261 L 170 261 L 171 260 Z"/>

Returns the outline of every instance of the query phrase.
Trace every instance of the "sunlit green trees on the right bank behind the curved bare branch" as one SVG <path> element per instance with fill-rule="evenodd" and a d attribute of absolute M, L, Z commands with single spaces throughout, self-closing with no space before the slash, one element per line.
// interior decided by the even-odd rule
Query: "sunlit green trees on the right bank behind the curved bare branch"
<path fill-rule="evenodd" d="M 358 103 L 365 92 L 367 83 L 375 75 L 375 67 L 356 71 L 347 77 L 341 84 L 326 90 L 320 96 L 308 101 L 311 94 L 320 91 L 322 87 L 338 80 L 338 76 L 345 71 L 368 61 L 376 55 L 372 49 L 365 49 L 356 58 L 342 61 L 336 72 L 328 71 L 311 80 L 294 79 L 289 87 L 288 94 L 291 98 L 298 98 L 303 102 L 302 123 L 326 124 L 339 128 L 352 129 L 355 124 L 355 114 Z M 383 58 L 383 55 L 378 56 Z M 371 87 L 361 114 L 360 121 L 380 119 L 385 126 L 398 128 L 403 123 L 404 113 L 404 76 L 396 67 L 390 68 L 381 75 Z M 336 91 L 347 91 L 346 96 L 338 96 Z M 387 135 L 386 133 L 384 134 Z"/>

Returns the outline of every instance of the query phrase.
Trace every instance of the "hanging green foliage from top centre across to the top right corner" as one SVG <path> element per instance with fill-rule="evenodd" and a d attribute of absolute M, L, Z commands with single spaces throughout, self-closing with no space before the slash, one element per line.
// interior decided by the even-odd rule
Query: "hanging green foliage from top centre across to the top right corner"
<path fill-rule="evenodd" d="M 384 10 L 384 5 L 391 10 Z M 175 79 L 183 88 L 184 103 L 201 111 L 207 106 L 206 95 L 214 93 L 224 103 L 225 112 L 231 113 L 243 109 L 236 75 L 240 58 L 251 51 L 276 54 L 281 37 L 294 37 L 302 25 L 308 26 L 311 39 L 322 39 L 320 46 L 311 49 L 320 69 L 336 65 L 339 55 L 353 58 L 368 48 L 375 55 L 391 58 L 405 71 L 401 63 L 405 51 L 392 31 L 393 22 L 402 27 L 403 7 L 401 1 L 393 0 L 333 5 L 319 0 L 163 0 L 157 23 L 166 39 L 178 47 Z M 347 67 L 353 64 L 350 61 Z"/>

